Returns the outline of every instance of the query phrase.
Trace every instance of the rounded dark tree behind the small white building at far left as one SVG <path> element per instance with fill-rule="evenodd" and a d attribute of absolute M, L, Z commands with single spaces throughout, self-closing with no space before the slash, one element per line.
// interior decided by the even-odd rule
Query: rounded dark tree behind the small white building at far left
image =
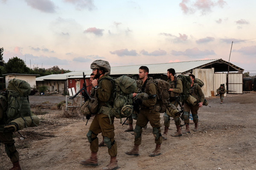
<path fill-rule="evenodd" d="M 30 69 L 26 66 L 25 62 L 18 57 L 12 57 L 8 60 L 4 69 L 5 74 L 30 74 Z"/>

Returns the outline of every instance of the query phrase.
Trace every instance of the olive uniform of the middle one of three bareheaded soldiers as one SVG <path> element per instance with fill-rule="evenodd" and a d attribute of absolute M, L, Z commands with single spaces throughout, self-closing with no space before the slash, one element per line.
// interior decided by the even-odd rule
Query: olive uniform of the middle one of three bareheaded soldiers
<path fill-rule="evenodd" d="M 172 97 L 175 96 L 180 96 L 180 94 L 182 93 L 182 81 L 181 79 L 177 79 L 177 77 L 174 77 L 173 81 L 171 81 L 171 79 L 168 79 L 167 82 L 169 82 L 170 84 L 170 88 L 172 88 L 172 91 L 169 91 L 170 94 L 170 102 L 175 105 L 175 107 L 178 107 L 178 102 L 175 103 L 175 99 L 172 99 Z M 175 87 L 176 84 L 176 87 Z M 166 113 L 164 113 L 163 115 L 163 119 L 164 119 L 164 126 L 165 127 L 169 127 L 170 126 L 170 116 L 168 116 Z M 174 117 L 174 121 L 175 121 L 175 125 L 179 126 L 180 125 L 180 117 L 175 118 Z"/>

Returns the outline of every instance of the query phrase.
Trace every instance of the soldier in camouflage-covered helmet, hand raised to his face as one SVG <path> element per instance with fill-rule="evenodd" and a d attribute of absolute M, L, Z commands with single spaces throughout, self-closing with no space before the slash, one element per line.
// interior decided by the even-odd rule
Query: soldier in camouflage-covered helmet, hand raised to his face
<path fill-rule="evenodd" d="M 97 152 L 99 150 L 98 134 L 102 133 L 104 136 L 104 143 L 108 147 L 108 154 L 110 155 L 110 163 L 103 168 L 103 170 L 113 170 L 118 168 L 116 155 L 117 147 L 114 139 L 114 117 L 109 118 L 109 107 L 113 107 L 113 92 L 114 86 L 112 80 L 109 78 L 111 67 L 108 61 L 95 60 L 91 66 L 93 69 L 94 79 L 92 81 L 93 91 L 98 98 L 98 113 L 93 118 L 90 125 L 89 132 L 87 133 L 88 141 L 90 142 L 91 156 L 87 160 L 81 160 L 79 163 L 82 165 L 97 166 L 98 158 Z M 98 79 L 98 80 L 97 80 Z M 110 122 L 111 119 L 111 122 Z"/>

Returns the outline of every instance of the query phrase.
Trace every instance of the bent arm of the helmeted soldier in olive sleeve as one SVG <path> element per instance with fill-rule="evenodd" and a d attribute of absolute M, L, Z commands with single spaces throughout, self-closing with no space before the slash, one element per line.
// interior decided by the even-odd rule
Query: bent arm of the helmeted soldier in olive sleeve
<path fill-rule="evenodd" d="M 113 85 L 110 80 L 102 80 L 101 87 L 96 89 L 97 97 L 102 102 L 108 102 L 113 90 Z"/>

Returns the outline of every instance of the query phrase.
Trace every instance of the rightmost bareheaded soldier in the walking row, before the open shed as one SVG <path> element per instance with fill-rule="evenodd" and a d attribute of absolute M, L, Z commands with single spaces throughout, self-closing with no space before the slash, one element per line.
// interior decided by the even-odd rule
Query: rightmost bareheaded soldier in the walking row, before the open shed
<path fill-rule="evenodd" d="M 195 123 L 195 128 L 193 129 L 193 131 L 198 130 L 198 109 L 203 106 L 203 102 L 204 102 L 204 93 L 200 85 L 194 82 L 195 76 L 193 74 L 189 74 L 189 76 L 192 81 L 189 89 L 189 94 L 191 94 L 193 97 L 197 99 L 198 104 L 192 105 L 186 101 L 184 102 L 183 116 L 184 116 L 184 123 L 186 125 L 186 130 L 183 133 L 190 133 L 189 131 L 189 112 L 190 111 L 192 113 L 193 122 Z"/>

